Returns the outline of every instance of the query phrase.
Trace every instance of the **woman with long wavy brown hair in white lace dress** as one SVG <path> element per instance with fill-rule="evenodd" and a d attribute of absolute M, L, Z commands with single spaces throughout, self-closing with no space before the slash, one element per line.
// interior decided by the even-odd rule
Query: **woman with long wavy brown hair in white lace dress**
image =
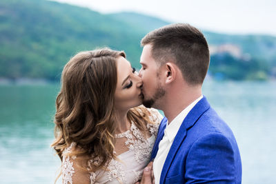
<path fill-rule="evenodd" d="M 80 52 L 63 68 L 52 143 L 63 183 L 135 183 L 149 162 L 161 115 L 137 107 L 142 81 L 125 58 Z"/>

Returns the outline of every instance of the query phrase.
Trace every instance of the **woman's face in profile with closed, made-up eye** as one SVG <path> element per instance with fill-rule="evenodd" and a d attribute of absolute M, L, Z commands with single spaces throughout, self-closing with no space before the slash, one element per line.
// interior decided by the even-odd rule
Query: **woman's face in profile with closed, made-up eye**
<path fill-rule="evenodd" d="M 115 109 L 129 110 L 141 105 L 142 80 L 124 57 L 117 59 L 117 86 L 115 90 Z"/>

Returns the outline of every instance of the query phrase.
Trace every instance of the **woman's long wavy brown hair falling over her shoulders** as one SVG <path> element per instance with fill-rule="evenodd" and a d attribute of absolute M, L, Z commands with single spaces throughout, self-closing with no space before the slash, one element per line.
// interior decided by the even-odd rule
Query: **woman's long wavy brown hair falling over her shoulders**
<path fill-rule="evenodd" d="M 118 57 L 126 57 L 126 54 L 107 48 L 80 52 L 63 68 L 52 143 L 61 160 L 63 150 L 72 142 L 81 147 L 75 155 L 101 158 L 101 163 L 92 170 L 116 159 L 113 153 L 117 127 L 114 96 Z M 127 117 L 146 132 L 146 122 L 150 122 L 146 108 L 132 108 Z"/>

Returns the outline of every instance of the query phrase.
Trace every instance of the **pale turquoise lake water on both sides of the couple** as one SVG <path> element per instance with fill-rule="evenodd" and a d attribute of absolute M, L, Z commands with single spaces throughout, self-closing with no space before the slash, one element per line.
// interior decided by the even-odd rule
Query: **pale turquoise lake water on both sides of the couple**
<path fill-rule="evenodd" d="M 0 85 L 0 183 L 54 183 L 58 91 L 55 84 Z M 235 134 L 242 183 L 276 183 L 276 83 L 206 81 L 204 95 Z"/>

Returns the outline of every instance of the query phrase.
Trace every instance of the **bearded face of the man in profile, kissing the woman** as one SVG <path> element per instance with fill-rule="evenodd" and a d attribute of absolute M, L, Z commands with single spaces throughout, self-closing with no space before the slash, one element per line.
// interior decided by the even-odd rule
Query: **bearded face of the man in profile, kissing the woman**
<path fill-rule="evenodd" d="M 165 94 L 164 88 L 161 86 L 159 77 L 159 65 L 152 58 L 151 54 L 152 45 L 144 46 L 141 54 L 141 70 L 139 76 L 143 81 L 141 93 L 144 95 L 143 105 L 146 108 L 159 108 L 159 99 Z"/>

